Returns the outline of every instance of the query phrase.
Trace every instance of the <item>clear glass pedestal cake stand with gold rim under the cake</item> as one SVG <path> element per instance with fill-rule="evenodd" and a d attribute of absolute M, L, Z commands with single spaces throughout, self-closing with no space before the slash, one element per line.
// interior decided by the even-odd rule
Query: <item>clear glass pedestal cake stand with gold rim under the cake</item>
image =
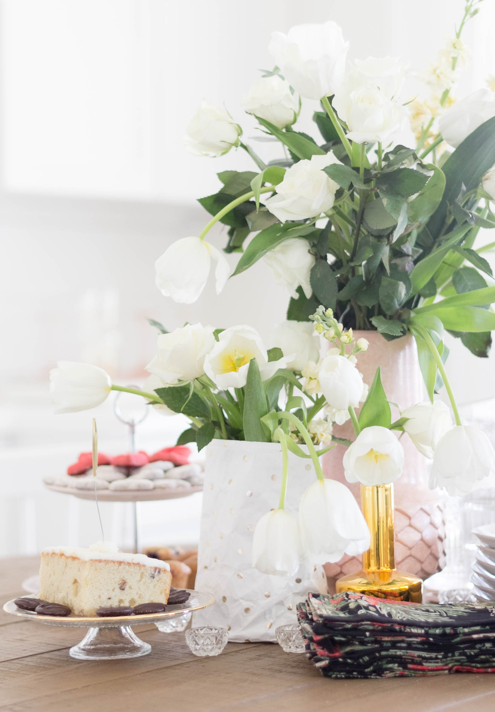
<path fill-rule="evenodd" d="M 119 658 L 138 658 L 151 652 L 151 645 L 140 640 L 132 628 L 137 625 L 159 623 L 176 615 L 198 611 L 211 606 L 215 599 L 210 593 L 189 591 L 191 596 L 186 603 L 167 607 L 164 613 L 149 613 L 137 616 L 115 616 L 112 618 L 83 616 L 41 616 L 33 611 L 23 611 L 14 600 L 4 604 L 4 611 L 13 616 L 29 618 L 46 625 L 65 628 L 88 628 L 85 637 L 70 648 L 69 655 L 79 660 L 116 660 Z"/>

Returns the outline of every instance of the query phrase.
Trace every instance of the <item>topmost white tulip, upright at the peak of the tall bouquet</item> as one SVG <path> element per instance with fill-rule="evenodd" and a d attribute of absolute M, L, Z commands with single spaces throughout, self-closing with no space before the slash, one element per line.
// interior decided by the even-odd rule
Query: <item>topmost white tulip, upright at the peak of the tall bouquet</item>
<path fill-rule="evenodd" d="M 268 51 L 290 85 L 307 99 L 335 93 L 344 78 L 348 42 L 335 22 L 273 32 Z"/>

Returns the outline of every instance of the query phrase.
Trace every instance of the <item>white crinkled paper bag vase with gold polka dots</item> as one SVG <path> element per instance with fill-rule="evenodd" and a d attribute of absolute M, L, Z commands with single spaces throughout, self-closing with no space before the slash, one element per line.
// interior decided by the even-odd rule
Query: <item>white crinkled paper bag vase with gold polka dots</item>
<path fill-rule="evenodd" d="M 312 461 L 289 452 L 287 511 L 297 516 L 315 479 Z M 306 563 L 282 577 L 251 566 L 255 525 L 277 507 L 281 482 L 278 443 L 213 440 L 207 446 L 195 588 L 212 593 L 215 604 L 193 615 L 193 627 L 226 628 L 234 642 L 276 642 L 275 629 L 296 622 L 296 604 L 309 591 L 326 592 L 322 567 Z"/>

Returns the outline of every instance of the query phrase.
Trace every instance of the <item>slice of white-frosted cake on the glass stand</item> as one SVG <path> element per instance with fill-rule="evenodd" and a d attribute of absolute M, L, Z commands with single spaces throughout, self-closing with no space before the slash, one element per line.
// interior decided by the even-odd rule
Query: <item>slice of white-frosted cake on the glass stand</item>
<path fill-rule="evenodd" d="M 94 616 L 102 607 L 166 603 L 171 580 L 166 562 L 119 552 L 109 542 L 41 552 L 40 598 L 68 606 L 76 615 Z"/>

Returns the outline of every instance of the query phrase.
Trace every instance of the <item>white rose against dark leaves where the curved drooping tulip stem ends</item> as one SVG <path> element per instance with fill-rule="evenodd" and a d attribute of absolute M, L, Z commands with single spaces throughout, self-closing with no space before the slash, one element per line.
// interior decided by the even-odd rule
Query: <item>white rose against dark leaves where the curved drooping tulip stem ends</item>
<path fill-rule="evenodd" d="M 323 172 L 332 163 L 341 165 L 331 151 L 294 163 L 285 172 L 282 182 L 275 186 L 277 195 L 265 201 L 267 208 L 282 222 L 325 213 L 333 206 L 339 190 L 339 184 Z"/>

